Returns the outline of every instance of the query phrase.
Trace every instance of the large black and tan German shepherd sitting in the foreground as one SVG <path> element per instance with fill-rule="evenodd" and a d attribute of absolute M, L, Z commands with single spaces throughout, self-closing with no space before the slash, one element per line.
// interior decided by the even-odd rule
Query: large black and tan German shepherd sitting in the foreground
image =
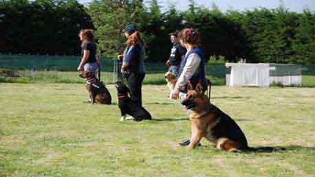
<path fill-rule="evenodd" d="M 202 93 L 200 84 L 196 86 L 195 90 L 188 91 L 182 104 L 191 110 L 189 115 L 191 121 L 189 148 L 193 149 L 204 137 L 213 142 L 219 150 L 234 152 L 250 149 L 241 128 L 231 117 L 210 104 L 208 97 Z"/>

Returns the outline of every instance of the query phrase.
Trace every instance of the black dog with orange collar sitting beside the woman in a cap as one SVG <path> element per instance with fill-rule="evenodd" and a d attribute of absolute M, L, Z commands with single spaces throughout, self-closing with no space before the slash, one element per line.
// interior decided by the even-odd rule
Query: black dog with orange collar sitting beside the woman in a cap
<path fill-rule="evenodd" d="M 137 102 L 134 102 L 129 96 L 129 88 L 121 82 L 116 82 L 115 87 L 118 92 L 118 106 L 121 112 L 121 121 L 126 119 L 126 115 L 131 115 L 135 121 L 142 121 L 143 119 L 151 120 L 150 113 Z"/>

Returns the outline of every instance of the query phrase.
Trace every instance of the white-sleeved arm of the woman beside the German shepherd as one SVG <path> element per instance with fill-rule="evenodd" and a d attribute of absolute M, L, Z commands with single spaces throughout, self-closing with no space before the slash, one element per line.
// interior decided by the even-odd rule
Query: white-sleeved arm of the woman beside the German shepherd
<path fill-rule="evenodd" d="M 200 62 L 202 59 L 198 56 L 198 54 L 191 54 L 187 59 L 187 62 L 184 66 L 182 73 L 180 74 L 180 78 L 178 78 L 175 88 L 172 93 L 172 98 L 177 99 L 180 88 L 186 86 L 188 80 L 193 76 L 195 71 L 198 69 Z"/>

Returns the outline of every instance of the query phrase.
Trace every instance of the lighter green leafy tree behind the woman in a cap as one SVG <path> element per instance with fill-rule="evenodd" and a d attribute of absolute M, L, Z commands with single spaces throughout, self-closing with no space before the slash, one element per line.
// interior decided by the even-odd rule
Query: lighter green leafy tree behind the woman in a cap
<path fill-rule="evenodd" d="M 122 53 L 124 41 L 122 29 L 127 24 L 140 24 L 145 18 L 142 1 L 94 0 L 88 7 L 96 27 L 99 54 L 116 56 Z"/>

